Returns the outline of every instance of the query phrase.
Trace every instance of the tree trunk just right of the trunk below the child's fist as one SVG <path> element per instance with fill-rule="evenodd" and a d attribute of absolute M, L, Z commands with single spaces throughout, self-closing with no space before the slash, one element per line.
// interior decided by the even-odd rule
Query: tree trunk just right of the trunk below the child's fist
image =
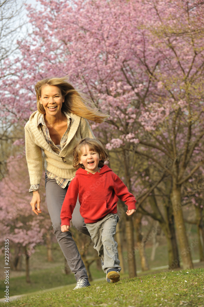
<path fill-rule="evenodd" d="M 139 248 L 139 254 L 140 254 L 141 268 L 142 271 L 147 271 L 149 270 L 149 265 L 145 252 L 145 242 L 141 234 L 141 219 L 142 215 L 140 213 L 135 213 L 135 228 L 137 236 L 137 246 Z"/>

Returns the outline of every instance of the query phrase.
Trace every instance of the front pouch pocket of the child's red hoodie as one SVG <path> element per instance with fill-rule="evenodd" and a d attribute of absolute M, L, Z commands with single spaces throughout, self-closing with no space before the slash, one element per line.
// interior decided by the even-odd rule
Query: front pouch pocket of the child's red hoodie
<path fill-rule="evenodd" d="M 84 200 L 80 207 L 81 216 L 89 220 L 99 220 L 109 212 L 106 200 Z"/>

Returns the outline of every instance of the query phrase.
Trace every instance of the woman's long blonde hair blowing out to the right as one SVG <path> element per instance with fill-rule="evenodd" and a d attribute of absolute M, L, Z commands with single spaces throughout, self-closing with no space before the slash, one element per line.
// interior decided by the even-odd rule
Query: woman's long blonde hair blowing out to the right
<path fill-rule="evenodd" d="M 55 85 L 60 88 L 62 96 L 64 97 L 64 103 L 62 104 L 62 111 L 68 113 L 74 113 L 81 117 L 93 122 L 104 122 L 109 115 L 102 113 L 94 105 L 93 101 L 88 95 L 79 93 L 71 84 L 67 82 L 68 77 L 43 79 L 37 82 L 35 85 L 35 91 L 37 96 L 37 110 L 45 114 L 45 109 L 40 104 L 40 97 L 42 88 L 46 85 Z"/>

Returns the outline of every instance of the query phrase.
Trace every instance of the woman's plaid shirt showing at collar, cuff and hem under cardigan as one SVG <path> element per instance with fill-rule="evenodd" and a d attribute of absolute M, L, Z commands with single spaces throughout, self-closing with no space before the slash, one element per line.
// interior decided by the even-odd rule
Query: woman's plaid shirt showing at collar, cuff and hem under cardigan
<path fill-rule="evenodd" d="M 63 149 L 64 145 L 67 142 L 67 137 L 68 137 L 70 126 L 71 126 L 71 117 L 66 112 L 64 112 L 64 114 L 67 117 L 67 130 L 65 131 L 63 137 L 61 138 L 59 145 L 55 145 L 54 142 L 52 141 L 52 139 L 50 138 L 49 130 L 48 130 L 46 123 L 45 123 L 45 120 L 44 120 L 44 114 L 40 115 L 40 118 L 39 118 L 38 123 L 37 123 L 38 126 L 40 125 L 40 128 L 43 132 L 43 135 L 44 135 L 46 142 L 50 145 L 52 150 L 54 152 L 58 153 L 58 154 L 60 153 L 60 151 Z M 48 176 L 48 178 L 55 179 L 57 184 L 61 188 L 65 188 L 67 186 L 67 183 L 69 181 L 71 181 L 71 179 L 65 179 L 65 178 L 57 177 L 56 175 L 48 172 L 47 170 L 45 170 L 45 172 L 46 172 L 46 175 Z M 31 185 L 29 192 L 37 191 L 39 189 L 39 186 L 40 185 Z"/>

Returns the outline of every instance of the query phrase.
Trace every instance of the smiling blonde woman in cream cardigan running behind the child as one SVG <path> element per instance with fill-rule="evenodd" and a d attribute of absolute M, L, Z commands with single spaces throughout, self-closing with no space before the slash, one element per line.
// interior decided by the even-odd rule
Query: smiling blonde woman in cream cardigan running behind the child
<path fill-rule="evenodd" d="M 31 184 L 29 192 L 33 192 L 30 204 L 33 212 L 37 215 L 41 213 L 38 188 L 43 154 L 48 212 L 60 248 L 75 274 L 75 289 L 79 289 L 90 286 L 90 283 L 71 232 L 61 231 L 60 211 L 68 185 L 75 177 L 73 147 L 82 138 L 94 138 L 89 120 L 100 123 L 108 115 L 99 112 L 96 107 L 89 107 L 91 99 L 83 98 L 67 82 L 67 77 L 41 80 L 37 82 L 35 90 L 38 111 L 30 116 L 25 125 L 25 150 Z M 79 202 L 73 212 L 72 223 L 76 229 L 89 235 L 79 213 Z"/>

